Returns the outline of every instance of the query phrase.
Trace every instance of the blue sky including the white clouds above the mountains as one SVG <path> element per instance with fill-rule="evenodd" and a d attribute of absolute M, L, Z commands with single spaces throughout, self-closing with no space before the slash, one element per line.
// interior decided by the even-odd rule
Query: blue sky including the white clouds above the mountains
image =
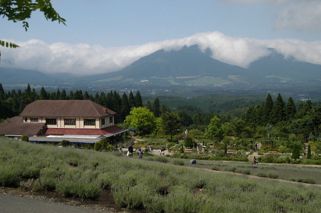
<path fill-rule="evenodd" d="M 292 49 L 293 45 L 297 45 L 295 49 L 300 49 L 300 43 L 312 49 L 305 52 L 309 57 L 301 54 L 296 57 L 298 60 L 321 63 L 320 59 L 318 60 L 321 56 L 320 0 L 52 0 L 52 4 L 67 20 L 67 26 L 46 21 L 40 12 L 35 12 L 28 20 L 30 28 L 25 32 L 21 23 L 0 18 L 0 39 L 15 41 L 24 49 L 20 49 L 18 53 L 14 52 L 17 50 L 5 50 L 7 55 L 3 54 L 1 66 L 27 67 L 44 72 L 72 72 L 85 67 L 79 74 L 85 74 L 89 69 L 95 69 L 97 73 L 115 71 L 158 48 L 166 48 L 166 40 L 172 41 L 169 46 L 173 48 L 175 39 L 180 43 L 178 46 L 188 45 L 193 42 L 188 39 L 188 43 L 181 43 L 181 39 L 200 34 L 204 36 L 206 33 L 214 37 L 219 35 L 220 39 L 208 38 L 194 44 L 206 45 L 204 42 L 209 42 L 208 45 L 217 49 L 226 45 L 235 46 L 233 42 L 245 39 L 244 42 L 255 41 L 255 45 L 259 45 L 257 48 L 261 48 L 262 45 L 275 48 L 278 46 L 277 43 L 280 44 L 283 42 L 282 39 L 285 39 L 285 42 L 291 44 L 280 47 L 279 52 L 296 56 L 295 54 L 299 53 L 293 53 L 293 50 L 291 52 L 289 49 Z M 211 42 L 232 44 L 224 43 L 223 46 L 217 46 Z M 83 45 L 80 46 L 80 43 Z M 248 47 L 250 50 L 253 47 L 252 43 Z M 151 48 L 151 45 L 147 44 L 155 45 Z M 38 51 L 37 48 L 40 47 L 41 50 Z M 244 45 L 240 47 L 243 48 Z M 27 48 L 29 49 L 26 52 Z M 43 50 L 46 48 L 47 52 Z M 79 52 L 79 48 L 86 49 L 86 57 L 92 52 L 92 62 L 79 64 L 82 60 L 82 56 L 76 53 Z M 127 58 L 124 54 L 126 50 L 131 51 Z M 43 56 L 37 55 L 37 52 L 49 55 L 41 58 Z M 74 66 L 64 62 L 63 58 L 58 60 L 62 65 L 53 69 L 47 69 L 50 64 L 32 65 L 37 60 L 42 63 L 40 59 L 56 60 L 55 54 L 61 52 L 69 54 L 68 63 L 72 59 Z M 29 65 L 25 61 L 13 58 L 21 54 L 33 54 L 30 60 L 32 63 Z M 266 54 L 260 51 L 257 56 Z M 110 55 L 118 55 L 119 58 L 111 58 Z M 23 55 L 20 57 L 23 58 Z M 98 57 L 106 60 L 99 61 Z M 239 61 L 231 61 L 222 53 L 214 53 L 214 57 L 242 67 L 251 62 L 242 64 Z M 257 57 L 253 56 L 250 59 L 255 60 Z M 240 58 L 240 61 L 242 60 Z M 64 63 L 67 65 L 63 66 Z"/>

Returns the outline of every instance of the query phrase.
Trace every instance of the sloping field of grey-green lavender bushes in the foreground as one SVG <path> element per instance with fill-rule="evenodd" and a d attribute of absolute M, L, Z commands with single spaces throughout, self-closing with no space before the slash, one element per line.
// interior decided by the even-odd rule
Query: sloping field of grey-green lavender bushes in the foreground
<path fill-rule="evenodd" d="M 4 186 L 82 199 L 97 199 L 110 188 L 118 205 L 148 213 L 321 212 L 316 186 L 196 170 L 179 166 L 182 159 L 161 156 L 140 160 L 3 138 L 0 144 Z"/>

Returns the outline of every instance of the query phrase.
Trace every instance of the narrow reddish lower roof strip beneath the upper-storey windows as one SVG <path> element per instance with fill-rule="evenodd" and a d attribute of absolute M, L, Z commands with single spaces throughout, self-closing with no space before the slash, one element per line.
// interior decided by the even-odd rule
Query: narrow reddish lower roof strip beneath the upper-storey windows
<path fill-rule="evenodd" d="M 73 128 L 48 128 L 45 135 L 106 135 L 122 130 L 118 126 L 103 129 L 73 129 Z"/>

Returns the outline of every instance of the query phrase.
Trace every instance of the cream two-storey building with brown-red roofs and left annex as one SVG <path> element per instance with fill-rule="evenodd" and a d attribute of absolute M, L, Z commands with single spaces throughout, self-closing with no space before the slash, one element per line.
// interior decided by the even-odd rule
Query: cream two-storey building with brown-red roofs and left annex
<path fill-rule="evenodd" d="M 115 125 L 115 114 L 90 100 L 37 100 L 20 116 L 5 120 L 0 134 L 11 138 L 28 135 L 35 142 L 96 142 L 127 131 Z"/>

